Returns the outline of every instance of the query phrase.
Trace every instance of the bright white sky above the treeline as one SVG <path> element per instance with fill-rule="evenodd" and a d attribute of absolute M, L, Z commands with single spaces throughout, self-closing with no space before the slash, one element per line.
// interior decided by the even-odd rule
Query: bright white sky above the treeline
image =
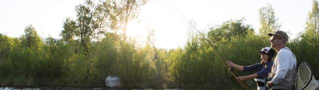
<path fill-rule="evenodd" d="M 280 30 L 289 31 L 291 37 L 304 31 L 313 0 L 151 0 L 140 9 L 139 18 L 128 25 L 128 35 L 138 43 L 146 41 L 147 33 L 155 31 L 155 46 L 172 49 L 187 42 L 189 20 L 198 30 L 208 30 L 227 20 L 245 18 L 258 32 L 258 9 L 272 5 Z M 63 21 L 75 19 L 75 6 L 83 0 L 1 0 L 0 33 L 19 37 L 24 28 L 32 24 L 40 37 L 61 38 Z M 175 9 L 176 8 L 176 9 Z M 185 18 L 184 18 L 185 17 Z"/>

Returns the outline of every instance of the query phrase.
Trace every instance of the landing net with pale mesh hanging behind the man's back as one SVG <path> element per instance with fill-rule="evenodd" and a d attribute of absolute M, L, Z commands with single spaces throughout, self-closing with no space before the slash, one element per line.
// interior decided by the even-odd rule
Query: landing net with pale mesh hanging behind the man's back
<path fill-rule="evenodd" d="M 317 87 L 318 87 L 318 83 L 315 77 L 312 75 L 310 67 L 308 66 L 307 63 L 301 63 L 298 66 L 298 72 L 296 74 L 296 80 L 295 80 L 296 90 L 302 90 L 304 88 L 305 88 L 304 90 L 316 90 Z"/>

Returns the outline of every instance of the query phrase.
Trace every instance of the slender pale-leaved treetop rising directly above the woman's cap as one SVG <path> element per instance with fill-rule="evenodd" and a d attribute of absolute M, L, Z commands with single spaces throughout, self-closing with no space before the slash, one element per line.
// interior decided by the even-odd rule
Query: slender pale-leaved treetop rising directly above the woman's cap
<path fill-rule="evenodd" d="M 281 27 L 281 24 L 277 22 L 278 18 L 275 16 L 274 9 L 270 4 L 259 8 L 259 20 L 261 24 L 259 34 L 263 36 L 267 35 L 267 33 L 279 30 Z"/>

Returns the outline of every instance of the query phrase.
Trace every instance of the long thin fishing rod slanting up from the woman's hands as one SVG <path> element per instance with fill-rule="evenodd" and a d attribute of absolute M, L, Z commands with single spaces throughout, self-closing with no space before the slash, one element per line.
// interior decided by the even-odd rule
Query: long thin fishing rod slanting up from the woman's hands
<path fill-rule="evenodd" d="M 177 10 L 172 4 L 170 4 L 169 2 L 168 2 L 168 0 L 166 0 L 166 2 L 171 6 L 171 7 L 173 7 L 187 22 L 188 22 L 188 24 L 190 24 L 192 27 L 194 27 L 194 29 L 209 43 L 209 45 L 211 45 L 211 47 L 212 48 L 214 48 L 215 50 L 213 50 L 215 53 L 217 52 L 217 54 L 219 55 L 219 56 L 221 56 L 221 58 L 224 60 L 221 60 L 221 59 L 219 59 L 219 61 L 223 64 L 223 66 L 224 67 L 226 67 L 227 69 L 228 68 L 230 68 L 229 69 L 229 71 L 231 72 L 231 74 L 234 76 L 234 78 L 237 80 L 237 76 L 233 73 L 233 71 L 231 70 L 231 67 L 229 67 L 228 65 L 226 65 L 226 59 L 225 59 L 225 57 L 215 48 L 216 46 L 215 45 L 213 45 L 206 37 L 205 37 L 205 35 L 202 33 L 202 32 L 200 32 L 199 30 L 197 30 L 196 29 L 196 27 L 193 25 L 193 24 L 191 24 L 188 20 L 187 20 L 187 18 L 183 15 L 183 14 L 181 14 L 181 12 L 179 12 L 179 10 Z M 239 84 L 245 89 L 245 90 L 249 90 L 249 88 L 247 87 L 247 85 L 246 84 L 244 84 L 242 81 L 240 81 L 240 80 L 237 80 L 238 82 L 239 82 Z"/>

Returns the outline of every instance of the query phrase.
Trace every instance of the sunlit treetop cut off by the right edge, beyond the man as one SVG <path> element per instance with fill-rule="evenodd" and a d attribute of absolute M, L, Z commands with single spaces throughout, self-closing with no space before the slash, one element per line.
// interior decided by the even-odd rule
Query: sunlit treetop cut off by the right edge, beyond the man
<path fill-rule="evenodd" d="M 319 8 L 318 1 L 313 0 L 313 7 L 311 12 L 308 14 L 308 19 L 306 21 L 306 31 L 304 36 L 318 36 L 319 32 Z"/>

